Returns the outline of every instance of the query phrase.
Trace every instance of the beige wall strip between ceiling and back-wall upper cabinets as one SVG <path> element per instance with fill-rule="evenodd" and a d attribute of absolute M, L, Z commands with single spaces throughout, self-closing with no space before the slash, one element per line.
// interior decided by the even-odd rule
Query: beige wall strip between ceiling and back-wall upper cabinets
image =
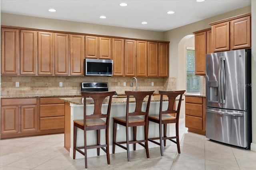
<path fill-rule="evenodd" d="M 158 31 L 145 31 L 142 29 L 112 27 L 7 13 L 1 13 L 1 25 L 152 40 L 163 40 L 164 35 L 163 32 Z"/>

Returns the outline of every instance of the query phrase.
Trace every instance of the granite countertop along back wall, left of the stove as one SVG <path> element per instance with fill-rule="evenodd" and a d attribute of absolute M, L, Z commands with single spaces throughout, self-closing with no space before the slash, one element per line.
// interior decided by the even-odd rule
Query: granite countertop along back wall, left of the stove
<path fill-rule="evenodd" d="M 78 97 L 81 94 L 20 94 L 20 95 L 2 95 L 1 98 L 36 98 L 36 97 Z"/>

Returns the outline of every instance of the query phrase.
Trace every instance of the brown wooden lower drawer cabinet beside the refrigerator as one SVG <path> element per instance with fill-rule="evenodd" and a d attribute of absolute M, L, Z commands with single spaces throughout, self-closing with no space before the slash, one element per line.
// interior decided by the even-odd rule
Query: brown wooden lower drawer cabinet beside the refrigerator
<path fill-rule="evenodd" d="M 185 126 L 188 131 L 205 135 L 205 97 L 185 97 Z"/>

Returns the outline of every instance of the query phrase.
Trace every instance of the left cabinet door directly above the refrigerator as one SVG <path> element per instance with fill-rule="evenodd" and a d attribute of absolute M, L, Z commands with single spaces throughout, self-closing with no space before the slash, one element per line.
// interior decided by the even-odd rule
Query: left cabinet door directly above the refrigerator
<path fill-rule="evenodd" d="M 229 51 L 229 22 L 212 25 L 212 43 L 214 52 Z"/>

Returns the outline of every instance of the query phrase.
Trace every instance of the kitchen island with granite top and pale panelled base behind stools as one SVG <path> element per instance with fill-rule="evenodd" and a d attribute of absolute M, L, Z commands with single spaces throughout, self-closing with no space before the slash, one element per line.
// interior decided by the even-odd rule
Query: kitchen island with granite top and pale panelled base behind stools
<path fill-rule="evenodd" d="M 65 140 L 64 147 L 70 152 L 70 157 L 73 157 L 73 120 L 74 119 L 83 119 L 84 118 L 84 98 L 83 97 L 74 97 L 74 98 L 60 98 L 65 102 Z M 135 99 L 130 98 L 130 109 L 135 109 Z M 87 111 L 92 112 L 94 105 L 92 100 L 86 100 L 86 109 Z M 152 96 L 150 101 L 149 114 L 159 113 L 159 104 L 160 96 Z M 168 98 L 164 98 L 163 109 L 168 107 Z M 142 104 L 142 108 L 146 108 L 146 100 Z M 107 101 L 103 102 L 102 113 L 107 111 Z M 126 96 L 113 96 L 112 106 L 110 111 L 110 123 L 109 123 L 109 144 L 110 144 L 110 153 L 112 153 L 112 135 L 113 135 L 113 119 L 112 117 L 125 116 L 126 113 Z M 169 126 L 167 126 L 167 134 L 169 133 Z M 125 141 L 126 133 L 125 127 L 117 127 L 116 141 Z M 158 137 L 159 136 L 159 125 L 153 122 L 149 123 L 148 137 Z M 132 128 L 129 129 L 129 139 L 132 139 Z M 83 131 L 78 129 L 77 132 L 77 146 L 84 145 Z M 100 134 L 101 143 L 105 143 L 105 133 L 102 131 Z M 91 137 L 90 137 L 91 136 Z M 137 140 L 144 138 L 144 127 L 140 126 L 137 128 Z M 170 141 L 169 141 L 170 142 Z M 96 131 L 87 131 L 87 145 L 92 145 L 96 143 Z M 167 142 L 168 145 L 168 142 Z M 157 147 L 158 145 L 148 142 L 149 147 Z M 132 150 L 133 147 L 130 147 Z M 144 149 L 144 147 L 137 145 L 137 150 Z M 116 147 L 116 152 L 126 152 L 126 150 Z M 100 152 L 100 154 L 106 154 L 105 152 Z M 87 150 L 87 156 L 97 156 L 96 149 Z M 82 154 L 76 152 L 76 158 L 84 158 Z"/>

